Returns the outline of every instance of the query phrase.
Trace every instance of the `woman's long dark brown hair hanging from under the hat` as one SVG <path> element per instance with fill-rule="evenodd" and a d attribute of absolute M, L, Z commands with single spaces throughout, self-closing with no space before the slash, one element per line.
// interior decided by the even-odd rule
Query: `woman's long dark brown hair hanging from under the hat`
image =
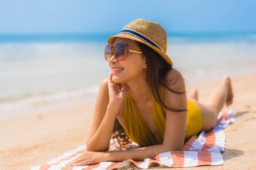
<path fill-rule="evenodd" d="M 175 112 L 182 112 L 186 111 L 185 109 L 174 109 L 169 108 L 166 106 L 164 100 L 162 99 L 162 94 L 160 91 L 160 87 L 164 86 L 164 88 L 167 88 L 169 91 L 177 94 L 186 93 L 185 91 L 179 92 L 174 91 L 173 89 L 169 88 L 167 84 L 175 84 L 175 82 L 182 76 L 177 70 L 172 68 L 170 64 L 168 64 L 164 58 L 159 55 L 155 50 L 151 49 L 146 44 L 143 44 L 141 42 L 137 42 L 137 46 L 141 49 L 143 54 L 146 56 L 146 62 L 147 62 L 147 82 L 150 86 L 151 92 L 157 103 L 162 106 L 163 108 L 175 111 Z M 166 79 L 166 73 L 169 71 L 173 72 L 173 79 Z M 117 138 L 117 141 L 119 142 L 119 145 L 121 148 L 125 148 L 125 145 L 129 143 L 129 138 L 124 133 L 124 128 L 121 126 L 119 121 L 116 119 L 115 127 L 113 131 L 113 138 Z"/>

